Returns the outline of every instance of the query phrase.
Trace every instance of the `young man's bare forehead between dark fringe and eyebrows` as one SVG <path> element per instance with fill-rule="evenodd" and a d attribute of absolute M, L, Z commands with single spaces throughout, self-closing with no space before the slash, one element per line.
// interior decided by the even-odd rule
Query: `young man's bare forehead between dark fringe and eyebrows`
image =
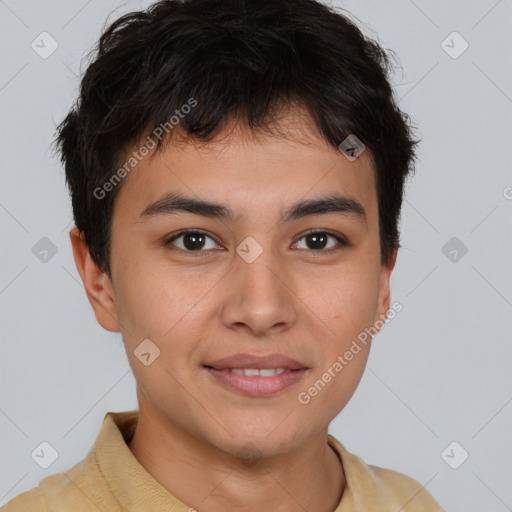
<path fill-rule="evenodd" d="M 135 220 L 166 192 L 178 192 L 231 205 L 239 218 L 335 193 L 365 204 L 370 215 L 376 211 L 368 151 L 349 160 L 320 137 L 300 109 L 282 115 L 270 130 L 250 130 L 231 120 L 207 142 L 173 134 L 124 178 L 115 210 Z"/>

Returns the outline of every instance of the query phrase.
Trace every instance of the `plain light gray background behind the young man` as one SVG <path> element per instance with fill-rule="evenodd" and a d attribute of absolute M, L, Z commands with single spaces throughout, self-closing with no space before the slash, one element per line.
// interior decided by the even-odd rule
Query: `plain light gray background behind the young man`
<path fill-rule="evenodd" d="M 48 146 L 107 16 L 149 3 L 0 0 L 0 505 L 85 457 L 106 412 L 137 407 L 120 335 L 96 323 L 76 271 Z M 446 510 L 512 510 L 512 1 L 336 5 L 398 54 L 394 85 L 423 142 L 392 276 L 403 311 L 330 431 Z M 43 31 L 59 45 L 47 59 L 31 48 Z M 457 58 L 453 31 L 469 43 Z M 46 262 L 32 250 L 43 237 L 57 250 Z M 59 454 L 46 470 L 30 456 L 42 441 Z"/>

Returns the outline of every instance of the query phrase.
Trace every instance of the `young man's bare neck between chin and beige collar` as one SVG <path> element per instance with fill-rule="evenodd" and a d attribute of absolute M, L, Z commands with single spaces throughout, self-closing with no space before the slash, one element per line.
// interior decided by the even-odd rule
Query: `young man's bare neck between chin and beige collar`
<path fill-rule="evenodd" d="M 341 500 L 345 475 L 327 429 L 292 452 L 251 462 L 161 425 L 139 411 L 128 446 L 162 487 L 198 511 L 334 512 Z"/>

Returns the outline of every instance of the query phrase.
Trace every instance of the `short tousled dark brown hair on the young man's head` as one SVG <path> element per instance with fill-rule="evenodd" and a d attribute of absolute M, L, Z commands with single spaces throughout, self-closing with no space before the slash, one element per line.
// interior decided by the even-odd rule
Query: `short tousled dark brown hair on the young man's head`
<path fill-rule="evenodd" d="M 169 126 L 194 98 L 179 129 L 197 140 L 212 139 L 232 117 L 251 130 L 268 127 L 295 104 L 329 144 L 355 134 L 376 172 L 387 264 L 400 246 L 404 182 L 419 142 L 394 99 L 388 53 L 348 16 L 315 0 L 162 0 L 114 21 L 55 139 L 75 224 L 95 263 L 110 276 L 112 212 L 122 183 L 105 197 L 95 191 L 104 190 L 130 145 Z"/>

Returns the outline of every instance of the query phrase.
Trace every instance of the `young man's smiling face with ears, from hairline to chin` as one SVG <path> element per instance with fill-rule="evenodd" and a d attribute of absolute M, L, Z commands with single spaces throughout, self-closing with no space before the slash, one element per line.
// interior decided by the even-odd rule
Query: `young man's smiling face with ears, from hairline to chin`
<path fill-rule="evenodd" d="M 381 266 L 367 152 L 349 160 L 297 113 L 281 126 L 288 137 L 236 128 L 142 160 L 116 198 L 112 280 L 98 273 L 87 287 L 100 324 L 123 335 L 140 409 L 231 454 L 247 443 L 284 453 L 325 430 L 354 393 L 371 340 L 344 354 L 389 308 L 394 260 Z M 142 214 L 169 193 L 222 208 Z M 315 207 L 335 197 L 362 211 L 339 200 Z M 240 354 L 300 369 L 266 377 L 211 365 Z M 256 359 L 274 370 L 287 362 Z"/>

